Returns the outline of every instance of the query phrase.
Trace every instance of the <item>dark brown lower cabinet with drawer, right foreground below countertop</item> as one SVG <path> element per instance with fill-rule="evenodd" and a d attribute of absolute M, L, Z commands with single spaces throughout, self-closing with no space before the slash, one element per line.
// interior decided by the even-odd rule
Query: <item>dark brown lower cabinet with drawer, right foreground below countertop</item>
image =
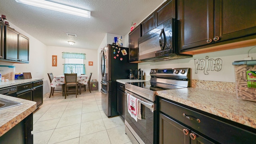
<path fill-rule="evenodd" d="M 255 144 L 256 129 L 157 97 L 159 144 Z"/>

